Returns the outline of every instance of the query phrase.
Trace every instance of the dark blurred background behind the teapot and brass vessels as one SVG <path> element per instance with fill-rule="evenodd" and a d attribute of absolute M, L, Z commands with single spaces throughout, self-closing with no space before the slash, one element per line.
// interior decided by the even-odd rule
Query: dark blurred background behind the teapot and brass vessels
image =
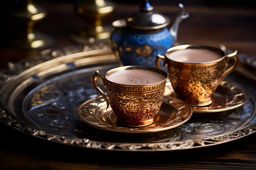
<path fill-rule="evenodd" d="M 10 18 L 11 11 L 19 8 L 25 0 L 9 0 L 2 5 L 0 10 L 0 51 L 2 52 L 2 63 L 0 68 L 5 68 L 8 62 L 18 62 L 19 60 L 37 55 L 45 49 L 59 49 L 66 46 L 76 45 L 77 42 L 71 40 L 70 36 L 87 28 L 88 19 L 81 18 L 74 9 L 74 3 L 79 0 L 34 0 L 31 1 L 38 7 L 44 9 L 47 16 L 36 22 L 34 31 L 44 33 L 49 36 L 53 43 L 43 49 L 21 49 L 8 45 L 10 38 L 16 38 L 22 24 L 13 24 Z M 85 1 L 92 2 L 92 1 Z M 111 26 L 111 23 L 121 18 L 128 18 L 132 13 L 139 10 L 142 0 L 108 0 L 114 7 L 114 12 L 102 20 L 102 24 Z M 161 11 L 171 18 L 173 24 L 180 9 L 178 3 L 184 5 L 185 11 L 190 13 L 190 17 L 180 24 L 178 31 L 178 41 L 187 43 L 199 43 L 203 40 L 206 45 L 218 46 L 225 44 L 230 49 L 238 49 L 239 52 L 255 55 L 250 51 L 251 46 L 255 46 L 256 40 L 256 5 L 251 0 L 150 0 L 150 4 L 155 10 Z M 91 12 L 88 11 L 88 15 Z M 15 21 L 16 22 L 16 21 Z M 247 30 L 241 32 L 241 30 Z M 227 38 L 229 40 L 227 40 Z M 238 41 L 244 40 L 252 43 L 246 44 Z M 208 41 L 211 40 L 211 41 Z M 247 48 L 250 48 L 247 50 Z M 18 55 L 19 53 L 22 55 Z"/>

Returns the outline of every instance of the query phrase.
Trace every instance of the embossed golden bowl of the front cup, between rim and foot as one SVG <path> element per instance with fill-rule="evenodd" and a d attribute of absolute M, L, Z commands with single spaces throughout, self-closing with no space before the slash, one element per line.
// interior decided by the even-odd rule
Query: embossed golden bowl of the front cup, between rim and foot
<path fill-rule="evenodd" d="M 112 84 L 114 85 L 114 84 Z M 157 111 L 159 110 L 162 99 L 164 97 L 164 83 L 160 83 L 156 86 L 149 86 L 147 89 L 153 90 L 148 93 L 136 93 L 146 87 L 138 87 L 134 91 L 128 91 L 126 89 L 108 88 L 109 103 L 113 112 L 117 115 L 118 119 L 125 121 L 142 122 L 153 119 Z M 132 93 L 131 93 L 132 92 Z"/>

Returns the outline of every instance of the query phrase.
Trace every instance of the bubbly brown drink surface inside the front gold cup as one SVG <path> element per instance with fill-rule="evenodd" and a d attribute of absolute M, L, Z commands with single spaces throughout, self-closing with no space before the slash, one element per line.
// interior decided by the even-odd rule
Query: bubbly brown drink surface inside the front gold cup
<path fill-rule="evenodd" d="M 126 85 L 148 85 L 161 82 L 164 75 L 149 70 L 133 69 L 113 73 L 106 77 L 111 82 Z"/>

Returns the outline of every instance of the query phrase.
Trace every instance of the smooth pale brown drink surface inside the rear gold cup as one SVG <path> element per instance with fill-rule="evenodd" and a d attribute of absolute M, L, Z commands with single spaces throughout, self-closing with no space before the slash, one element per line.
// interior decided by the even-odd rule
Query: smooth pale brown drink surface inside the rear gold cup
<path fill-rule="evenodd" d="M 222 55 L 207 49 L 184 49 L 173 51 L 166 57 L 176 62 L 204 63 L 218 60 L 222 58 Z"/>

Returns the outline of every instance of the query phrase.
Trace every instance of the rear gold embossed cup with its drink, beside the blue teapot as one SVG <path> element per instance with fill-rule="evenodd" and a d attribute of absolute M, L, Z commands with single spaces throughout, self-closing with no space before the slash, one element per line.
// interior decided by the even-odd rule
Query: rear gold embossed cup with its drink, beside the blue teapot
<path fill-rule="evenodd" d="M 234 62 L 229 64 L 229 59 Z M 207 106 L 211 95 L 237 63 L 237 51 L 225 55 L 219 48 L 187 44 L 175 46 L 158 55 L 157 68 L 168 65 L 168 78 L 177 97 L 191 106 Z"/>

